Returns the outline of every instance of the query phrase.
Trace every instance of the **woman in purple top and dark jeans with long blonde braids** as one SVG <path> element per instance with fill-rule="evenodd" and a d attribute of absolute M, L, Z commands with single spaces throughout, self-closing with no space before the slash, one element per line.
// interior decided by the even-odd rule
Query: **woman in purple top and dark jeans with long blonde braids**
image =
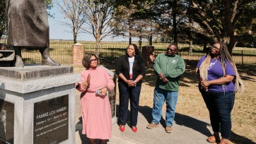
<path fill-rule="evenodd" d="M 209 109 L 213 136 L 209 143 L 228 143 L 231 136 L 231 111 L 235 102 L 235 92 L 243 91 L 244 85 L 228 48 L 216 42 L 209 54 L 202 56 L 197 64 L 199 90 Z M 219 136 L 221 126 L 221 138 Z"/>

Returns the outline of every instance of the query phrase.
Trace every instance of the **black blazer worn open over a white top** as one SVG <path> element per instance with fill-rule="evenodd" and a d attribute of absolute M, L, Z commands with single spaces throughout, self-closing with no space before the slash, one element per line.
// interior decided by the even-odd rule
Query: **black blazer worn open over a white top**
<path fill-rule="evenodd" d="M 132 80 L 135 80 L 139 75 L 145 76 L 145 64 L 143 59 L 139 60 L 136 56 L 134 58 L 134 65 L 132 66 L 132 73 L 133 78 Z M 129 60 L 127 54 L 120 56 L 115 64 L 115 73 L 117 73 L 117 76 L 122 73 L 127 80 L 130 80 L 129 78 Z M 122 83 L 124 85 L 127 85 L 127 83 L 122 80 L 122 78 L 118 78 L 118 83 Z M 141 85 L 142 80 L 140 80 L 136 85 Z"/>

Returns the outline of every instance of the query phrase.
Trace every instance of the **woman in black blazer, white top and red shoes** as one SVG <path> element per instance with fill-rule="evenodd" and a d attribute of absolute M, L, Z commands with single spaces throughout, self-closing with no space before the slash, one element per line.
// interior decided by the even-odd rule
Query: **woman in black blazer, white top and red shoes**
<path fill-rule="evenodd" d="M 139 110 L 139 95 L 141 92 L 142 78 L 145 76 L 144 61 L 139 54 L 136 44 L 129 44 L 126 54 L 117 59 L 115 72 L 118 78 L 120 92 L 119 120 L 120 131 L 124 131 L 127 121 L 128 102 L 130 99 L 132 131 L 136 133 Z"/>

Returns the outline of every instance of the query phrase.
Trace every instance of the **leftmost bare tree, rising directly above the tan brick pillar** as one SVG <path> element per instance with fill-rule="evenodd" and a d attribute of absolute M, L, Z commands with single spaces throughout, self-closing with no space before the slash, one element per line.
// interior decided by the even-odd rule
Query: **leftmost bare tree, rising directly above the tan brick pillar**
<path fill-rule="evenodd" d="M 64 16 L 64 19 L 60 21 L 63 25 L 69 27 L 73 32 L 74 44 L 76 44 L 76 38 L 79 33 L 83 32 L 83 24 L 86 23 L 87 17 L 84 11 L 84 4 L 82 0 L 58 0 L 56 4 L 59 11 Z M 68 31 L 70 32 L 70 31 Z"/>

